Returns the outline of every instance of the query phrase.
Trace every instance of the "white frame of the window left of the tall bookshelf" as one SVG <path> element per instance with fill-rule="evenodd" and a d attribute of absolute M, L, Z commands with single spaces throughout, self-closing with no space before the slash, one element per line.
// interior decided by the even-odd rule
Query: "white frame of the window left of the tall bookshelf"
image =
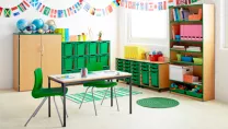
<path fill-rule="evenodd" d="M 158 45 L 158 46 L 167 46 L 170 39 L 170 30 L 169 30 L 169 9 L 167 11 L 167 37 L 166 38 L 140 38 L 132 36 L 132 12 L 128 11 L 127 16 L 127 43 L 129 44 L 146 44 L 146 45 Z"/>

